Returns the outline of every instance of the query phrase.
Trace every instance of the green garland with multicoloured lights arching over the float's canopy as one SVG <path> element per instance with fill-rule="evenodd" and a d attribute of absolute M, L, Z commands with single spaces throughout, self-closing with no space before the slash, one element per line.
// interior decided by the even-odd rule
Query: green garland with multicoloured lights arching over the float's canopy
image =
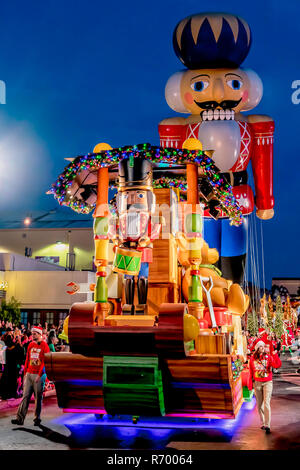
<path fill-rule="evenodd" d="M 96 171 L 102 167 L 115 167 L 123 158 L 143 157 L 152 163 L 162 164 L 163 168 L 173 165 L 186 165 L 187 163 L 197 163 L 207 177 L 212 186 L 215 197 L 220 202 L 222 211 L 231 219 L 231 224 L 240 225 L 242 220 L 241 209 L 233 196 L 232 187 L 224 180 L 213 160 L 205 155 L 202 150 L 173 149 L 151 146 L 150 144 L 139 144 L 105 150 L 100 153 L 90 153 L 88 155 L 76 157 L 58 177 L 52 185 L 50 192 L 58 200 L 59 204 L 69 206 L 76 212 L 88 214 L 95 205 L 87 204 L 79 198 L 72 197 L 70 188 L 76 176 L 84 170 Z M 167 165 L 167 166 L 166 166 Z M 114 184 L 110 186 L 115 187 Z M 154 179 L 154 188 L 179 188 L 187 189 L 186 178 L 184 176 L 160 177 Z"/>

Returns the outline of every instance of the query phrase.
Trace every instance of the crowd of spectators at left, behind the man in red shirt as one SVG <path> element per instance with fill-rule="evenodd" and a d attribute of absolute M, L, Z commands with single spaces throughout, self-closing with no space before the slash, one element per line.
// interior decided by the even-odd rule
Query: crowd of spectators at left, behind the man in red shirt
<path fill-rule="evenodd" d="M 41 324 L 25 326 L 0 320 L 0 400 L 19 398 L 23 393 L 23 372 L 27 348 L 32 341 L 31 327 L 43 328 L 43 340 L 51 352 L 68 351 L 67 343 L 60 339 L 63 321 L 59 325 Z"/>

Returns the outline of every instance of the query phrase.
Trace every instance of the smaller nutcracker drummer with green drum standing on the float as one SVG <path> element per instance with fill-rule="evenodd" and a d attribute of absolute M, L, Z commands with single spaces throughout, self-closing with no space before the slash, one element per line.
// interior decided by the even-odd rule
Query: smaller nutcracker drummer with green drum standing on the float
<path fill-rule="evenodd" d="M 123 313 L 145 314 L 152 240 L 159 237 L 161 224 L 152 223 L 155 211 L 152 164 L 143 157 L 123 158 L 119 163 L 117 194 L 118 217 L 111 224 L 110 238 L 115 240 L 114 271 L 124 274 Z M 138 305 L 134 306 L 135 276 Z"/>

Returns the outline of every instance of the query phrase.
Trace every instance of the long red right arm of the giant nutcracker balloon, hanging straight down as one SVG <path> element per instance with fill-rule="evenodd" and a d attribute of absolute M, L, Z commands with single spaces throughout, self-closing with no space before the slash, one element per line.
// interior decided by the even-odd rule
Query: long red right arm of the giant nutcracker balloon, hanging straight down
<path fill-rule="evenodd" d="M 275 124 L 269 116 L 248 116 L 254 135 L 252 171 L 255 185 L 256 215 L 271 219 L 274 215 L 273 142 Z"/>

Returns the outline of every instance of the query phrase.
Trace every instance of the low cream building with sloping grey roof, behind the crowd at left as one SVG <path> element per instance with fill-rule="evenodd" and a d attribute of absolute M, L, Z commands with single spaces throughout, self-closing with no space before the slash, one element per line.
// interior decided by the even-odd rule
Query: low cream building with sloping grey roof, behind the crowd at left
<path fill-rule="evenodd" d="M 66 271 L 45 261 L 13 253 L 0 253 L 2 299 L 14 297 L 21 303 L 21 323 L 58 325 L 74 302 L 92 300 L 92 293 L 70 295 L 69 282 L 92 284 L 92 271 Z"/>

